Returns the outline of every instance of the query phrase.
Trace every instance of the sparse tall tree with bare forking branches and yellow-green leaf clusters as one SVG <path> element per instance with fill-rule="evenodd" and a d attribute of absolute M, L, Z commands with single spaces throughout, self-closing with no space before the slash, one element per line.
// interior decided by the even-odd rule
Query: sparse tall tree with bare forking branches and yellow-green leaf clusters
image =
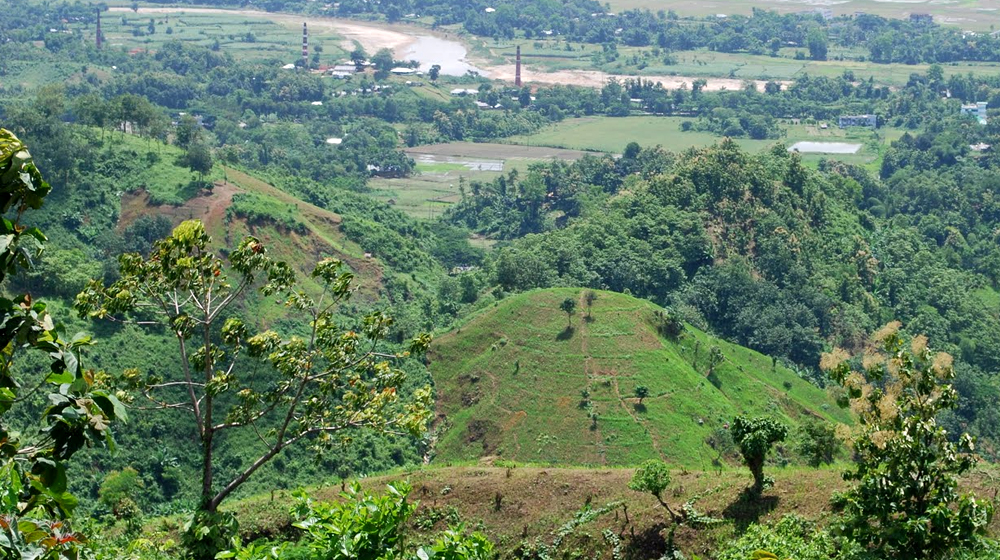
<path fill-rule="evenodd" d="M 313 297 L 257 239 L 240 243 L 229 254 L 228 267 L 209 244 L 201 222 L 184 222 L 157 242 L 149 258 L 122 256 L 121 280 L 110 286 L 92 282 L 76 305 L 90 317 L 163 325 L 176 338 L 178 360 L 167 368 L 169 376 L 127 370 L 120 382 L 156 407 L 189 415 L 198 435 L 198 449 L 191 452 L 201 456 L 202 476 L 199 513 L 186 544 L 193 556 L 203 558 L 228 545 L 224 529 L 233 522 L 216 513 L 219 505 L 283 449 L 308 441 L 323 451 L 351 428 L 417 435 L 425 430 L 431 404 L 427 387 L 403 403 L 399 389 L 405 373 L 389 363 L 423 351 L 429 336 L 415 339 L 407 352 L 388 354 L 380 342 L 389 317 L 371 314 L 357 331 L 338 326 L 334 312 L 350 297 L 353 279 L 340 261 L 316 266 L 312 276 L 322 293 Z M 234 304 L 254 289 L 282 296 L 308 325 L 307 336 L 255 334 L 231 316 Z M 243 359 L 256 365 L 239 368 Z M 259 372 L 268 368 L 272 371 Z M 240 376 L 241 371 L 251 373 Z M 215 438 L 230 430 L 256 434 L 261 452 L 234 477 L 217 483 Z"/>

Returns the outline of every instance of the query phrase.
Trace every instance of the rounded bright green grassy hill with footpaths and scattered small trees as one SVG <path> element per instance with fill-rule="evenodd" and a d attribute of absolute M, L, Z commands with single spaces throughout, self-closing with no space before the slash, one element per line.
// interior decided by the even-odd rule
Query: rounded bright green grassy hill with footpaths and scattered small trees
<path fill-rule="evenodd" d="M 793 428 L 810 418 L 849 421 L 826 391 L 762 354 L 690 326 L 676 339 L 660 336 L 660 308 L 631 296 L 597 292 L 587 318 L 583 294 L 513 296 L 433 344 L 437 461 L 631 465 L 660 457 L 706 468 L 732 451 L 726 428 L 737 414 Z M 559 309 L 567 297 L 577 301 L 572 329 Z M 637 386 L 649 390 L 641 404 Z"/>

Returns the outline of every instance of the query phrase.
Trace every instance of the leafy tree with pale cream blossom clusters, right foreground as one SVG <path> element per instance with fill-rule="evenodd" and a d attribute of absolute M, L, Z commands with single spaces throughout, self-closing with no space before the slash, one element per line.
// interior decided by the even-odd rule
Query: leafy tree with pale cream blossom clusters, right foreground
<path fill-rule="evenodd" d="M 857 484 L 838 498 L 839 530 L 889 557 L 939 558 L 983 534 L 993 506 L 958 494 L 975 442 L 969 434 L 953 440 L 937 423 L 958 405 L 951 356 L 931 352 L 923 336 L 906 348 L 899 326 L 876 333 L 859 369 L 842 350 L 820 363 L 847 390 L 841 404 L 858 418 L 855 468 L 844 473 Z"/>

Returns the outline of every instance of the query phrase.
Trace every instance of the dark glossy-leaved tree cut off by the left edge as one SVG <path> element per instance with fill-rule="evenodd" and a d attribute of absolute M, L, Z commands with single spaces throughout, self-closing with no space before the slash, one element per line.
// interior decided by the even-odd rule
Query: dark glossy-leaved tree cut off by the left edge
<path fill-rule="evenodd" d="M 42 206 L 49 185 L 24 144 L 0 129 L 0 283 L 28 269 L 46 241 L 21 223 Z M 67 490 L 67 463 L 84 447 L 110 442 L 109 426 L 125 409 L 83 368 L 79 351 L 90 339 L 63 338 L 45 304 L 30 294 L 0 297 L 0 557 L 76 558 L 81 535 L 67 520 L 76 498 Z M 40 379 L 15 375 L 21 351 L 44 353 L 49 371 Z M 42 426 L 12 431 L 9 417 L 33 393 L 49 387 Z M 21 415 L 23 423 L 24 412 Z M 23 425 L 21 427 L 24 427 Z"/>

